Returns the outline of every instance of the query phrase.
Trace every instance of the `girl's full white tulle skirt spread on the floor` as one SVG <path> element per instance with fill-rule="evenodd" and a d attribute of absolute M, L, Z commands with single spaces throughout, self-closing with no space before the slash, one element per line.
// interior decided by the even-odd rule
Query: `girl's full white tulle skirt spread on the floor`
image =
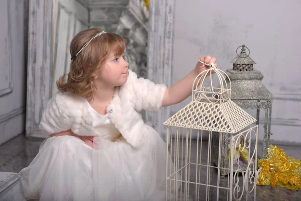
<path fill-rule="evenodd" d="M 77 137 L 51 137 L 19 175 L 26 199 L 165 200 L 166 144 L 146 125 L 139 148 L 122 137 L 94 138 L 93 148 Z"/>

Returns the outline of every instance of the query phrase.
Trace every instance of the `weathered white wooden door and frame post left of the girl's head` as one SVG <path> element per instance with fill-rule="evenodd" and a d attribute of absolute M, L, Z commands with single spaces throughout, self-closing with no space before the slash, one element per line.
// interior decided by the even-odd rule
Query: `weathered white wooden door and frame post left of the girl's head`
<path fill-rule="evenodd" d="M 30 1 L 26 136 L 45 138 L 39 129 L 56 81 L 68 72 L 69 44 L 89 27 L 87 0 Z M 52 90 L 54 89 L 54 90 Z"/>

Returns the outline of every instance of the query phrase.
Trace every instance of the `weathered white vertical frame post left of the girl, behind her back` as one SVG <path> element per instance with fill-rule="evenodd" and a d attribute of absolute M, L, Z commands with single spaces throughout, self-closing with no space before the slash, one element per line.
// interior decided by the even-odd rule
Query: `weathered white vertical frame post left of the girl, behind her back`
<path fill-rule="evenodd" d="M 26 136 L 38 135 L 51 97 L 53 1 L 29 2 Z"/>

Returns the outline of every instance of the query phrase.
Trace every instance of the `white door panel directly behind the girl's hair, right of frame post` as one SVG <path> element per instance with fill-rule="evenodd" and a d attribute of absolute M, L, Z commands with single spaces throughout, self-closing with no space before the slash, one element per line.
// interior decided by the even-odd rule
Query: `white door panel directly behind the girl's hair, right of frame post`
<path fill-rule="evenodd" d="M 54 8 L 52 94 L 57 92 L 58 78 L 69 71 L 71 40 L 78 32 L 89 27 L 88 8 L 82 3 L 75 0 L 57 0 Z"/>

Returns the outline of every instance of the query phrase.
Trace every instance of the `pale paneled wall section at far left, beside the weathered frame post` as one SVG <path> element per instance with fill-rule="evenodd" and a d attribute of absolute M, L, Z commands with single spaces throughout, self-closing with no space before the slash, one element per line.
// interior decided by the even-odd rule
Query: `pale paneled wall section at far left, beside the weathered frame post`
<path fill-rule="evenodd" d="M 16 0 L 0 7 L 0 144 L 25 131 L 25 8 Z"/>

